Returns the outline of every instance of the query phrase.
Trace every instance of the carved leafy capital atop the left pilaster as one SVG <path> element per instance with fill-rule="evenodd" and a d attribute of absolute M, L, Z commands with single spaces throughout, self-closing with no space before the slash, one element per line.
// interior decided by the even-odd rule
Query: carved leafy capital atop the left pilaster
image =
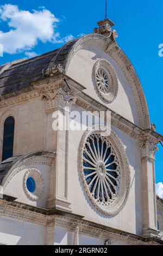
<path fill-rule="evenodd" d="M 45 101 L 47 108 L 52 107 L 65 107 L 74 104 L 77 97 L 72 95 L 70 92 L 65 92 L 62 88 L 57 92 L 45 93 L 41 95 L 41 100 Z"/>

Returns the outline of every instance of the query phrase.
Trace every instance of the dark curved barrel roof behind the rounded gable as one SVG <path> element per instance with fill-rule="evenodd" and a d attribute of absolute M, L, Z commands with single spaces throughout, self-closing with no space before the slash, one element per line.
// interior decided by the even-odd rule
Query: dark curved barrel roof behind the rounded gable
<path fill-rule="evenodd" d="M 30 86 L 31 82 L 44 78 L 43 69 L 54 64 L 62 64 L 65 68 L 68 53 L 78 39 L 67 42 L 61 48 L 47 52 L 21 62 L 12 62 L 0 66 L 0 95 Z"/>

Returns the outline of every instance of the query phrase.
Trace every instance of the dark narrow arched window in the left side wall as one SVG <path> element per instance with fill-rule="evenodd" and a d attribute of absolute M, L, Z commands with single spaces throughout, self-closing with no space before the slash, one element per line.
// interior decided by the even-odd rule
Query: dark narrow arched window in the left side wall
<path fill-rule="evenodd" d="M 13 155 L 14 124 L 15 120 L 13 117 L 8 117 L 4 122 L 2 161 Z"/>

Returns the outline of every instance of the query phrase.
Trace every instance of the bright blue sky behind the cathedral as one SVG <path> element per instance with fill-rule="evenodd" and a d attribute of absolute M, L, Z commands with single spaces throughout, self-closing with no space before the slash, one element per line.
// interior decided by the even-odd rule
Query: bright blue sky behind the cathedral
<path fill-rule="evenodd" d="M 17 17 L 12 20 L 12 13 L 5 13 L 2 17 L 0 8 L 0 39 L 3 38 L 6 42 L 8 52 L 0 58 L 0 64 L 54 50 L 68 39 L 92 33 L 96 22 L 105 17 L 105 0 L 1 0 L 1 5 L 4 4 L 17 5 Z M 162 0 L 108 0 L 108 16 L 116 23 L 117 42 L 133 63 L 146 94 L 151 121 L 156 124 L 156 131 L 163 134 L 163 57 L 158 55 L 158 47 L 163 44 L 162 9 Z M 28 13 L 22 13 L 20 10 L 26 10 Z M 41 14 L 35 12 L 36 15 L 32 16 L 34 19 L 30 19 L 33 10 L 40 11 Z M 41 23 L 41 15 L 47 20 L 47 29 L 45 23 Z M 29 21 L 35 25 L 39 24 L 35 30 Z M 17 29 L 18 35 L 14 31 L 11 32 L 11 29 Z M 9 31 L 9 34 L 4 34 Z M 17 45 L 21 50 L 17 49 Z M 159 148 L 159 153 L 156 154 L 157 183 L 163 182 L 163 148 Z"/>

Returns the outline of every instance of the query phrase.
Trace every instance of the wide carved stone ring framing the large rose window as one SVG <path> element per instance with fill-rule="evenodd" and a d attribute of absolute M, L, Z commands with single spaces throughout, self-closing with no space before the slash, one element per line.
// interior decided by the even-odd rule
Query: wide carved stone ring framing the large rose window
<path fill-rule="evenodd" d="M 84 132 L 84 135 L 82 137 L 82 140 L 80 142 L 79 147 L 79 172 L 80 176 L 83 181 L 84 188 L 86 190 L 87 196 L 91 200 L 91 203 L 95 206 L 95 208 L 102 212 L 102 214 L 106 216 L 116 216 L 120 213 L 120 211 L 124 208 L 124 205 L 126 205 L 129 191 L 130 191 L 130 167 L 129 167 L 129 161 L 128 157 L 126 155 L 126 150 L 124 149 L 124 146 L 122 144 L 121 139 L 116 135 L 114 131 L 107 131 L 103 132 L 104 130 L 96 129 L 96 127 L 92 127 L 92 130 L 88 129 Z M 87 139 L 93 135 L 93 134 L 99 134 L 101 136 L 104 136 L 108 139 L 110 145 L 112 146 L 112 149 L 116 153 L 116 157 L 118 159 L 119 168 L 120 168 L 120 188 L 118 190 L 118 194 L 115 198 L 115 200 L 109 204 L 109 205 L 101 205 L 99 204 L 95 198 L 92 196 L 89 186 L 87 185 L 87 182 L 85 180 L 84 175 L 84 168 L 83 168 L 83 153 L 84 153 L 84 147 Z"/>

